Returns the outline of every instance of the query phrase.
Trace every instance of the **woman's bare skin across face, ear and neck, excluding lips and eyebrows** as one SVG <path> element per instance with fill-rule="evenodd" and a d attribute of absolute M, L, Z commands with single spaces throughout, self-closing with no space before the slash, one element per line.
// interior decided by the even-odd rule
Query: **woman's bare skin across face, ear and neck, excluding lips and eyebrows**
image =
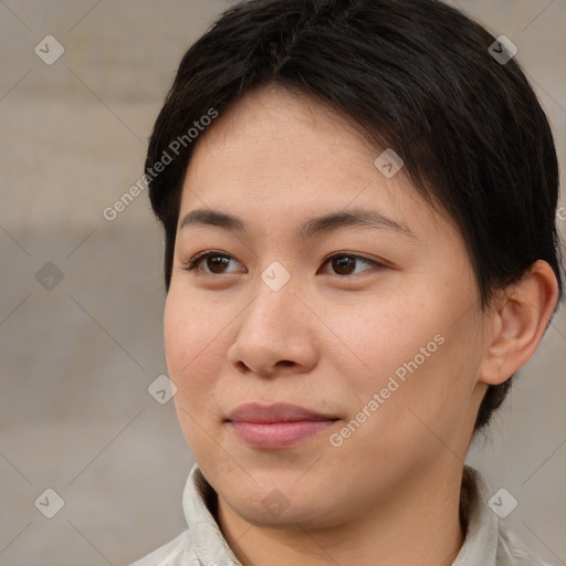
<path fill-rule="evenodd" d="M 182 432 L 247 566 L 451 564 L 464 536 L 463 461 L 486 386 L 528 360 L 556 304 L 556 280 L 539 261 L 483 312 L 459 230 L 402 169 L 387 179 L 374 166 L 380 153 L 319 102 L 269 87 L 222 114 L 189 165 L 179 224 L 203 207 L 249 224 L 248 233 L 179 230 L 165 310 Z M 347 227 L 294 237 L 307 218 L 354 208 L 378 209 L 413 235 Z M 186 271 L 203 250 L 230 262 Z M 361 259 L 340 271 L 325 261 L 336 252 Z M 291 276 L 279 291 L 261 279 L 274 261 Z M 331 434 L 434 336 L 442 344 L 333 446 Z M 226 422 L 248 401 L 339 420 L 294 446 L 258 449 Z M 279 512 L 268 496 L 282 502 Z"/>

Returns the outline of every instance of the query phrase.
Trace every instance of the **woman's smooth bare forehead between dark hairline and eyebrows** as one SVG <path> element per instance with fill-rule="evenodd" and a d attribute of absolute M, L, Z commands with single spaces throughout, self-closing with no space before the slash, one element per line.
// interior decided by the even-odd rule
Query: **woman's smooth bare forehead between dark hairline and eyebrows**
<path fill-rule="evenodd" d="M 388 178 L 376 167 L 382 151 L 352 119 L 311 96 L 279 87 L 250 93 L 199 138 L 185 179 L 179 224 L 189 210 L 219 206 L 240 211 L 240 217 L 249 217 L 247 210 L 253 208 L 266 218 L 290 220 L 366 207 L 399 223 L 437 223 L 438 211 L 429 208 L 402 168 Z"/>

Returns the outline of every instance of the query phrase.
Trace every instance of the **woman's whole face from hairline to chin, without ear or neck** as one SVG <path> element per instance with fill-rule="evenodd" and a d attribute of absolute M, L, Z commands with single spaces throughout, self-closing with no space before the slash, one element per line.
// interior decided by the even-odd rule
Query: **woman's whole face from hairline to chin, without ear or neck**
<path fill-rule="evenodd" d="M 463 464 L 486 388 L 472 268 L 379 154 L 333 111 L 269 88 L 221 115 L 190 161 L 167 363 L 196 461 L 247 521 L 336 525 Z M 238 220 L 191 221 L 202 209 Z M 363 213 L 373 222 L 338 222 Z M 245 403 L 258 410 L 232 415 Z"/>

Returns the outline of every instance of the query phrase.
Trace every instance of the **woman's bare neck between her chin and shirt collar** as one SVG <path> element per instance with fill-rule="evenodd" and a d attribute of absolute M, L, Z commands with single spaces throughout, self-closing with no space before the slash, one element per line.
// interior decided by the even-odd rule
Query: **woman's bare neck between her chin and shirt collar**
<path fill-rule="evenodd" d="M 448 566 L 464 531 L 460 523 L 461 465 L 442 462 L 442 474 L 418 472 L 410 482 L 339 525 L 263 528 L 249 524 L 219 497 L 220 528 L 243 566 Z"/>

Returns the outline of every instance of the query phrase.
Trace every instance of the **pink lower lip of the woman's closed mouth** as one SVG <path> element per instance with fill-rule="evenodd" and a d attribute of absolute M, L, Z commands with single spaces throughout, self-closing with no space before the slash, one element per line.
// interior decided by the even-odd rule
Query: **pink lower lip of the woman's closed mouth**
<path fill-rule="evenodd" d="M 234 433 L 256 448 L 285 448 L 296 444 L 334 424 L 334 420 L 296 420 L 285 422 L 228 422 Z"/>

